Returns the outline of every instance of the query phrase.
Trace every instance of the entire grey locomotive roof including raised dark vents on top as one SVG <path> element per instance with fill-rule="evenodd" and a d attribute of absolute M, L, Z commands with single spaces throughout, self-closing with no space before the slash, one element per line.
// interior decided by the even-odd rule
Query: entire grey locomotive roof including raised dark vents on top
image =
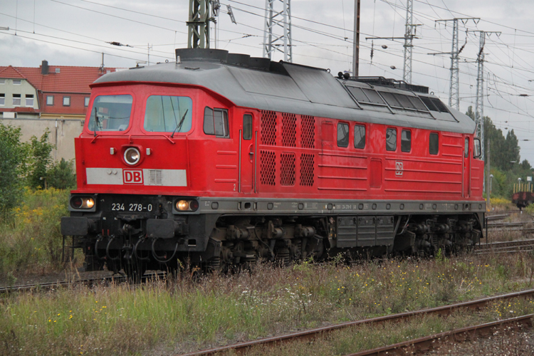
<path fill-rule="evenodd" d="M 176 63 L 120 70 L 103 75 L 94 84 L 113 82 L 199 85 L 244 108 L 426 130 L 469 134 L 475 131 L 475 122 L 470 117 L 446 107 L 434 95 L 406 89 L 409 85 L 401 89 L 392 85 L 373 85 L 371 83 L 375 82 L 371 80 L 349 80 L 342 75 L 335 78 L 329 70 L 282 61 L 276 63 L 222 50 L 177 49 Z M 369 98 L 370 95 L 377 98 L 360 100 L 357 93 L 362 90 Z M 375 90 L 381 95 L 376 95 Z M 432 110 L 421 110 L 422 103 L 415 105 L 415 109 L 402 108 L 402 104 L 392 105 L 390 100 L 395 100 L 392 96 L 399 99 L 394 103 L 402 103 L 402 100 L 405 103 L 420 102 L 419 97 L 426 107 L 432 106 Z"/>

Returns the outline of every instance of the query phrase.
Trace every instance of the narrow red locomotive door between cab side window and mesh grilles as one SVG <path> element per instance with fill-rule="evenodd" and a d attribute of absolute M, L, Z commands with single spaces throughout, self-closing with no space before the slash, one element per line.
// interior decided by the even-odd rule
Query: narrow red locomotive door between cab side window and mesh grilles
<path fill-rule="evenodd" d="M 256 172 L 256 135 L 253 132 L 254 119 L 253 115 L 243 115 L 243 130 L 240 132 L 239 142 L 239 192 L 252 193 L 254 192 L 254 177 Z"/>

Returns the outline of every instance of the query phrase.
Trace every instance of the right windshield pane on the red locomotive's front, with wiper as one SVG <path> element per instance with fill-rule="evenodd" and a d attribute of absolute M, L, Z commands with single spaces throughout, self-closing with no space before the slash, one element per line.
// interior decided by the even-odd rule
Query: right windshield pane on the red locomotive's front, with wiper
<path fill-rule="evenodd" d="M 145 110 L 145 130 L 188 132 L 191 130 L 193 100 L 187 96 L 150 95 Z"/>

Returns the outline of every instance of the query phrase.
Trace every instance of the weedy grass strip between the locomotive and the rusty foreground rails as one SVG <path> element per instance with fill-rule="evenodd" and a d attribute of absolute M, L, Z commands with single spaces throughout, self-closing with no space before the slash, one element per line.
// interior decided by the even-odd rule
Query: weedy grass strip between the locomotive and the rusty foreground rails
<path fill-rule="evenodd" d="M 429 308 L 530 286 L 534 258 L 522 258 L 263 264 L 199 281 L 9 295 L 0 300 L 0 355 L 167 355 Z"/>

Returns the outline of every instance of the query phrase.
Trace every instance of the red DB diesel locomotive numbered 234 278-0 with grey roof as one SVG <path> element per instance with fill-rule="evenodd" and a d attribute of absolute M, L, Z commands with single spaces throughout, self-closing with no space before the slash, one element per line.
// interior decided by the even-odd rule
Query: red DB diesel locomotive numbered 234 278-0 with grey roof
<path fill-rule="evenodd" d="M 454 249 L 483 231 L 475 123 L 428 88 L 211 49 L 103 75 L 63 235 L 88 270 Z"/>

